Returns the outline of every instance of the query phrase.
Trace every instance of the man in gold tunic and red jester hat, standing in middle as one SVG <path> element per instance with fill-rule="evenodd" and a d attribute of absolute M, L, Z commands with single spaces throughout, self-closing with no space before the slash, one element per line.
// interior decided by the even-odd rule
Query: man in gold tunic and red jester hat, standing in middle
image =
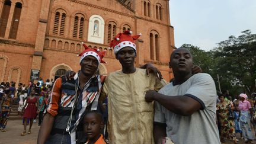
<path fill-rule="evenodd" d="M 124 31 L 110 43 L 122 66 L 105 79 L 100 96 L 108 97 L 110 143 L 153 143 L 153 103 L 144 97 L 149 89 L 158 91 L 167 83 L 135 67 L 135 40 L 140 35 Z"/>

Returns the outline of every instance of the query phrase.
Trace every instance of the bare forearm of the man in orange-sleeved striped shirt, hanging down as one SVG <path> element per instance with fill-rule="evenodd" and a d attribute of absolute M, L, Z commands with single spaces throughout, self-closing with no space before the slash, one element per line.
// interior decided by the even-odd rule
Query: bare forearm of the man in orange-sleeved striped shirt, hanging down
<path fill-rule="evenodd" d="M 54 118 L 52 114 L 46 113 L 43 119 L 43 123 L 39 129 L 39 135 L 37 137 L 37 144 L 43 144 L 46 142 L 48 136 L 53 127 Z"/>

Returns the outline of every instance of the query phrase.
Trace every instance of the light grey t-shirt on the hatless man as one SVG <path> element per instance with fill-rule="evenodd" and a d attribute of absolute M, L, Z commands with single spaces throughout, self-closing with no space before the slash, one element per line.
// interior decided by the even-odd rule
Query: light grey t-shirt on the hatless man
<path fill-rule="evenodd" d="M 183 84 L 175 85 L 175 82 L 171 82 L 160 89 L 159 93 L 169 95 L 169 97 L 186 95 L 198 101 L 202 107 L 191 116 L 181 116 L 156 102 L 154 121 L 167 124 L 167 136 L 175 144 L 220 143 L 215 119 L 217 94 L 212 76 L 207 73 L 198 73 Z"/>

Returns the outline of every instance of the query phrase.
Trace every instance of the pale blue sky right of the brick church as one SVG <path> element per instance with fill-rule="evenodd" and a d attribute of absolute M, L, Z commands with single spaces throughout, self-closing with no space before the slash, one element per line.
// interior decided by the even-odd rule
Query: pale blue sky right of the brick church
<path fill-rule="evenodd" d="M 175 46 L 210 50 L 241 31 L 256 33 L 256 0 L 170 0 Z"/>

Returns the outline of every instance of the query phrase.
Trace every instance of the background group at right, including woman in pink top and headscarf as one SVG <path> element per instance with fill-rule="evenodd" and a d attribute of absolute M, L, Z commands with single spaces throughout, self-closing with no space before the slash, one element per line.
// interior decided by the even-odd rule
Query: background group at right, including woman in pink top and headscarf
<path fill-rule="evenodd" d="M 256 94 L 251 94 L 248 98 L 247 94 L 229 96 L 229 92 L 219 92 L 217 103 L 217 124 L 220 133 L 220 141 L 225 139 L 233 140 L 236 143 L 239 139 L 236 133 L 240 133 L 241 140 L 245 143 L 254 140 L 254 132 L 256 130 Z"/>

